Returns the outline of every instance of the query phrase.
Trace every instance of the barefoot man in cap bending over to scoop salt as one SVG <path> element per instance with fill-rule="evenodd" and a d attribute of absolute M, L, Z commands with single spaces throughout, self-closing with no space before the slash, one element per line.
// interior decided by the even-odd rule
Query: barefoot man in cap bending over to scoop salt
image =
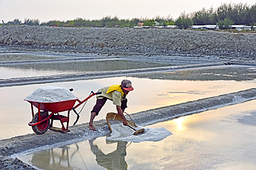
<path fill-rule="evenodd" d="M 100 109 L 106 103 L 107 99 L 113 101 L 113 105 L 116 105 L 116 110 L 118 111 L 118 115 L 122 118 L 122 124 L 127 126 L 127 120 L 123 114 L 125 108 L 127 108 L 127 94 L 134 90 L 134 87 L 131 86 L 131 81 L 123 80 L 121 85 L 111 85 L 109 87 L 102 87 L 98 90 L 98 92 L 102 92 L 102 94 L 98 94 L 96 96 L 96 104 L 91 111 L 91 118 L 89 122 L 89 129 L 95 131 L 95 127 L 93 126 L 93 119 L 100 112 Z"/>

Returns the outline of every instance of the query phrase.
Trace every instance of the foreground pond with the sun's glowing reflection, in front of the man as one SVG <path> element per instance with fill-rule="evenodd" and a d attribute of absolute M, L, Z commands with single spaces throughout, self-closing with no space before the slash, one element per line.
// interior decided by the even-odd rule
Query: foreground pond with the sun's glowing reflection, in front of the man
<path fill-rule="evenodd" d="M 256 100 L 149 125 L 163 140 L 125 142 L 107 136 L 18 156 L 39 169 L 256 169 Z"/>

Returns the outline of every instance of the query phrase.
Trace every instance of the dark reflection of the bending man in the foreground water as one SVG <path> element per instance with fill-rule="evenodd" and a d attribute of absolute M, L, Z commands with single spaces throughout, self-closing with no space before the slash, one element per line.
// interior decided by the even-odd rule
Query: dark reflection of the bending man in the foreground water
<path fill-rule="evenodd" d="M 116 151 L 103 153 L 97 145 L 93 145 L 93 140 L 89 140 L 91 151 L 96 156 L 97 163 L 106 169 L 127 169 L 127 162 L 125 162 L 126 145 L 125 141 L 117 141 L 118 146 Z"/>

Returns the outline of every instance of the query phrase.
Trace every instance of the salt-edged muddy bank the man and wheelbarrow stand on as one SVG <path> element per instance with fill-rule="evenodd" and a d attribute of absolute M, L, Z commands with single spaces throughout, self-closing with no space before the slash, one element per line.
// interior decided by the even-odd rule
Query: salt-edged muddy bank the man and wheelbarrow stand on
<path fill-rule="evenodd" d="M 179 105 L 171 105 L 169 107 L 161 107 L 147 111 L 141 111 L 132 114 L 132 118 L 137 125 L 150 125 L 163 120 L 170 120 L 175 117 L 195 114 L 208 109 L 223 107 L 224 105 L 232 105 L 241 103 L 246 100 L 256 98 L 256 89 L 247 89 L 232 94 L 224 94 L 211 98 L 203 98 L 201 100 L 181 103 Z M 15 153 L 28 151 L 30 149 L 39 149 L 48 145 L 61 145 L 62 142 L 72 143 L 77 140 L 88 140 L 110 133 L 106 120 L 95 122 L 98 131 L 90 131 L 88 123 L 71 126 L 71 132 L 62 134 L 56 131 L 47 131 L 46 134 L 27 134 L 25 136 L 17 136 L 10 139 L 0 140 L 0 155 L 10 156 Z"/>

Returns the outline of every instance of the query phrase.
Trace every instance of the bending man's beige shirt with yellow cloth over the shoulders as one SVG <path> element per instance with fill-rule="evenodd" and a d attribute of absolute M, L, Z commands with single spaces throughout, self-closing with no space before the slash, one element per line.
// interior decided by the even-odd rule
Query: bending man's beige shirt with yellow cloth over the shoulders
<path fill-rule="evenodd" d="M 122 92 L 121 85 L 111 85 L 109 87 L 102 87 L 98 90 L 98 92 L 102 92 L 102 94 L 98 94 L 97 98 L 102 99 L 103 97 L 109 98 L 109 100 L 113 101 L 113 105 L 121 106 L 122 96 L 124 92 Z"/>

